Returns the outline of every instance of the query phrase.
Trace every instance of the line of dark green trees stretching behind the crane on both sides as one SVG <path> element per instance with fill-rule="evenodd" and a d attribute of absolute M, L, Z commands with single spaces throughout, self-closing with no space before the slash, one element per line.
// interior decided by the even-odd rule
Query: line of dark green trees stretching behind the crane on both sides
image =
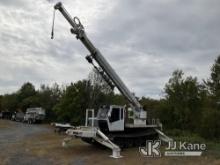
<path fill-rule="evenodd" d="M 220 56 L 211 67 L 210 77 L 199 82 L 197 77 L 184 76 L 175 70 L 164 87 L 160 100 L 138 98 L 149 116 L 160 118 L 167 130 L 189 131 L 207 139 L 220 137 Z M 87 80 L 67 86 L 41 85 L 35 89 L 30 82 L 11 94 L 0 96 L 0 111 L 23 111 L 43 107 L 48 121 L 83 124 L 85 110 L 101 105 L 125 105 L 128 102 L 114 93 L 93 70 Z"/>

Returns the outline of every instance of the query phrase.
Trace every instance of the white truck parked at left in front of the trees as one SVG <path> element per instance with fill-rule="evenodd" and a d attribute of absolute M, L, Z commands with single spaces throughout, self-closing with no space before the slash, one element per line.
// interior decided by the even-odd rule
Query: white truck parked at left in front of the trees
<path fill-rule="evenodd" d="M 24 115 L 24 122 L 29 124 L 41 123 L 45 119 L 45 110 L 41 107 L 27 108 Z"/>

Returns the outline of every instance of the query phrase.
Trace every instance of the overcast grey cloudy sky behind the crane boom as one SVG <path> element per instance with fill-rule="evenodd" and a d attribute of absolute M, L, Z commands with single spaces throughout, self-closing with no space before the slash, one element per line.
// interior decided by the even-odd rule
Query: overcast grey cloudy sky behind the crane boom
<path fill-rule="evenodd" d="M 88 51 L 69 33 L 55 0 L 0 0 L 0 94 L 24 82 L 69 84 L 88 77 Z M 220 54 L 219 0 L 63 0 L 138 96 L 159 98 L 175 69 L 201 81 Z"/>

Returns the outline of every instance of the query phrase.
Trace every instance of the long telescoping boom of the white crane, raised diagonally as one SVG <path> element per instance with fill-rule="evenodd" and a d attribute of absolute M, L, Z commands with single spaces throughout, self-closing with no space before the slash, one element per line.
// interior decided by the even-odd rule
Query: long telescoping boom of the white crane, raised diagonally
<path fill-rule="evenodd" d="M 76 35 L 76 38 L 79 39 L 83 45 L 89 50 L 91 55 L 87 56 L 87 60 L 92 62 L 94 59 L 102 70 L 108 75 L 114 85 L 118 88 L 118 90 L 122 93 L 122 95 L 132 104 L 135 111 L 142 111 L 142 106 L 135 98 L 135 96 L 130 92 L 130 90 L 126 87 L 124 82 L 120 79 L 120 77 L 116 74 L 114 69 L 109 65 L 101 52 L 92 44 L 92 42 L 87 37 L 84 27 L 81 24 L 80 20 L 77 17 L 72 18 L 70 14 L 63 7 L 62 3 L 59 2 L 54 6 L 55 9 L 58 9 L 66 20 L 72 26 L 71 33 Z"/>

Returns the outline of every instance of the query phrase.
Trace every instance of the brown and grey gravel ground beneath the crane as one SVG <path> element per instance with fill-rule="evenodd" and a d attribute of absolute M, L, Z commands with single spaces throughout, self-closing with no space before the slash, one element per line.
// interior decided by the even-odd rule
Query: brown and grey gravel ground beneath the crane
<path fill-rule="evenodd" d="M 0 120 L 0 165 L 86 165 L 86 164 L 146 164 L 146 165 L 219 165 L 219 157 L 146 158 L 138 148 L 122 151 L 123 158 L 113 159 L 108 149 L 97 148 L 75 139 L 66 148 L 61 146 L 64 135 L 53 132 L 49 125 L 29 125 Z"/>

